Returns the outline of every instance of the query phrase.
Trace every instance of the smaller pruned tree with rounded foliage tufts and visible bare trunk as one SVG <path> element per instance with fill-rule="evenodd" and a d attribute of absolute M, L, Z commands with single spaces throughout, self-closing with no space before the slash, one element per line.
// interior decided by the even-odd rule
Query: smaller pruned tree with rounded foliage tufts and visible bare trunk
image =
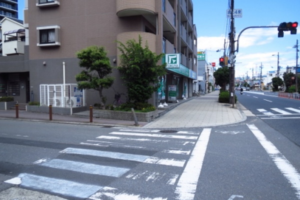
<path fill-rule="evenodd" d="M 76 54 L 79 58 L 79 66 L 85 68 L 76 75 L 78 88 L 99 91 L 100 107 L 104 109 L 102 90 L 109 88 L 113 83 L 113 78 L 108 76 L 112 72 L 112 67 L 104 47 L 89 46 Z"/>

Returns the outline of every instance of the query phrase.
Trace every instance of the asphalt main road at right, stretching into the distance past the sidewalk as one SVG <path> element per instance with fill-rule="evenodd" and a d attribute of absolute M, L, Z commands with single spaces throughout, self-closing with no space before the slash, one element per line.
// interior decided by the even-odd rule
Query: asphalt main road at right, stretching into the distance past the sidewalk
<path fill-rule="evenodd" d="M 300 146 L 300 100 L 251 91 L 236 94 L 243 106 Z"/>

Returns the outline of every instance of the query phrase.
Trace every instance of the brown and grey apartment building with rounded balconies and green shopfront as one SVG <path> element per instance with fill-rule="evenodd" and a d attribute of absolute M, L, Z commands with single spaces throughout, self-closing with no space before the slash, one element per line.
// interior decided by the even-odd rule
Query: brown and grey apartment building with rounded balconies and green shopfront
<path fill-rule="evenodd" d="M 176 85 L 177 98 L 192 95 L 197 78 L 192 0 L 25 0 L 24 28 L 23 68 L 29 71 L 30 100 L 39 101 L 41 84 L 76 83 L 75 75 L 82 70 L 76 52 L 99 45 L 115 67 L 112 87 L 103 90 L 106 103 L 112 103 L 116 92 L 126 93 L 116 69 L 120 55 L 116 41 L 137 41 L 138 35 L 153 52 L 180 57 L 178 68 L 166 68 L 166 76 L 158 77 L 166 84 L 165 99 L 155 92 L 149 103 L 167 101 L 168 85 Z M 97 91 L 86 93 L 87 105 L 98 102 Z"/>

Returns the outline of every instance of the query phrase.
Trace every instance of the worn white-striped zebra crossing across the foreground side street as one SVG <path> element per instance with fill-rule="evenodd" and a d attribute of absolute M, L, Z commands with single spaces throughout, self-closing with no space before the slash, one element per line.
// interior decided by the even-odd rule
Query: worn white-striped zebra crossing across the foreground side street
<path fill-rule="evenodd" d="M 20 187 L 67 199 L 166 200 L 161 192 L 141 196 L 132 185 L 173 191 L 199 135 L 189 131 L 112 131 L 81 142 L 80 147 L 62 149 L 53 159 L 37 160 L 31 170 L 34 173 L 23 172 L 6 182 L 17 181 Z"/>

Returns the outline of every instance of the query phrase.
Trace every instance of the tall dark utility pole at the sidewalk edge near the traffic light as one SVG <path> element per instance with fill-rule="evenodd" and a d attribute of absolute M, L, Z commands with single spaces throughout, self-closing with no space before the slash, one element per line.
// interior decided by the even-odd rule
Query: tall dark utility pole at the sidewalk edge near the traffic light
<path fill-rule="evenodd" d="M 234 52 L 235 52 L 235 45 L 234 45 L 234 34 L 235 34 L 235 28 L 234 28 L 234 18 L 233 18 L 233 9 L 234 9 L 234 0 L 231 0 L 230 3 L 230 11 L 231 11 L 231 23 L 230 23 L 230 57 L 231 60 L 234 59 Z M 229 85 L 229 90 L 230 90 L 230 96 L 231 96 L 231 103 L 232 103 L 232 108 L 234 107 L 234 61 L 233 63 L 230 63 L 231 67 L 229 68 L 229 73 L 230 73 L 230 85 Z"/>

